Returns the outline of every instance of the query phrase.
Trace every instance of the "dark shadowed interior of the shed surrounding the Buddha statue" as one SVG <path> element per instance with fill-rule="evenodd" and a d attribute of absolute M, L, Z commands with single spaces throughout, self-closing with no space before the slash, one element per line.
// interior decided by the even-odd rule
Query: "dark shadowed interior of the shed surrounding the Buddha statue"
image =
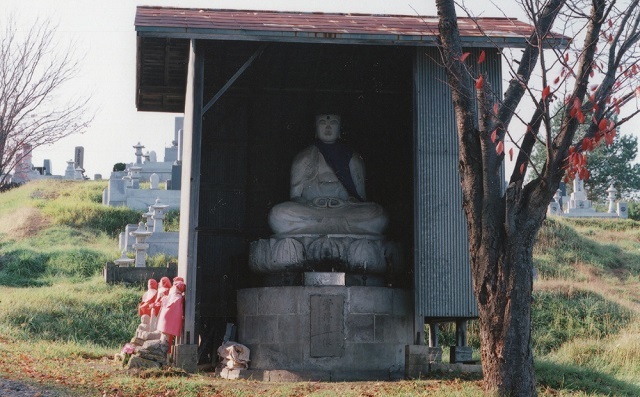
<path fill-rule="evenodd" d="M 367 200 L 381 204 L 385 233 L 403 247 L 413 279 L 413 57 L 415 48 L 198 41 L 204 103 L 261 46 L 264 51 L 203 118 L 197 253 L 200 361 L 211 359 L 234 322 L 235 291 L 260 286 L 249 243 L 267 238 L 270 208 L 289 199 L 293 157 L 314 138 L 315 114 L 339 113 L 342 139 L 367 167 Z"/>

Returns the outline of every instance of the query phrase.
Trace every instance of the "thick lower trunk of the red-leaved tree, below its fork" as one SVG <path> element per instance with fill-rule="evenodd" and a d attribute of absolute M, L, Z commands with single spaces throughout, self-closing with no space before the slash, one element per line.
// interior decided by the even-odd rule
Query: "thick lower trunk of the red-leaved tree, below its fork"
<path fill-rule="evenodd" d="M 480 317 L 484 388 L 499 396 L 534 396 L 536 378 L 531 340 L 533 246 L 546 212 L 545 198 L 521 207 L 518 185 L 506 192 L 506 210 L 487 221 L 471 239 L 471 271 Z M 487 208 L 488 206 L 485 206 Z M 500 225 L 493 229 L 493 225 Z M 477 243 L 475 243 L 477 242 Z"/>

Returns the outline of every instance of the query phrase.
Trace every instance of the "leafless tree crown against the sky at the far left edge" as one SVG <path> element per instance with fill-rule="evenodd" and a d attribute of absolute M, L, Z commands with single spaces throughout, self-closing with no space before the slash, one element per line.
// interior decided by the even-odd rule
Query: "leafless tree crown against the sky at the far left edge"
<path fill-rule="evenodd" d="M 36 20 L 24 37 L 17 32 L 7 17 L 0 39 L 0 184 L 33 149 L 82 133 L 93 119 L 88 97 L 59 98 L 79 65 L 71 50 L 54 51 L 55 27 Z"/>

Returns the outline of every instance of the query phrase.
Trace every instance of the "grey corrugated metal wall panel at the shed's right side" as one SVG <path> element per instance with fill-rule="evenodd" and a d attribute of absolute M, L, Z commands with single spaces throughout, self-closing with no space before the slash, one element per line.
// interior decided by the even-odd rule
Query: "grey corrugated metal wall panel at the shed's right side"
<path fill-rule="evenodd" d="M 458 173 L 458 138 L 451 93 L 437 48 L 418 48 L 415 89 L 415 307 L 416 319 L 477 317 L 467 226 Z M 472 65 L 480 49 L 472 52 Z M 501 92 L 501 59 L 486 49 L 482 64 Z M 420 324 L 416 324 L 418 329 Z"/>

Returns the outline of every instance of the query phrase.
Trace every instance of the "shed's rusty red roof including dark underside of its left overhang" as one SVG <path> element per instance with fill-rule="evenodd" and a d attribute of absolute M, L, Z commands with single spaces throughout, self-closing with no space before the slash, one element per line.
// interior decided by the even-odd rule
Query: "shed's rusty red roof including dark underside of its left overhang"
<path fill-rule="evenodd" d="M 533 30 L 508 18 L 458 19 L 465 47 L 524 47 Z M 136 106 L 182 112 L 190 40 L 435 46 L 437 17 L 138 7 Z M 547 46 L 566 44 L 552 34 Z"/>

